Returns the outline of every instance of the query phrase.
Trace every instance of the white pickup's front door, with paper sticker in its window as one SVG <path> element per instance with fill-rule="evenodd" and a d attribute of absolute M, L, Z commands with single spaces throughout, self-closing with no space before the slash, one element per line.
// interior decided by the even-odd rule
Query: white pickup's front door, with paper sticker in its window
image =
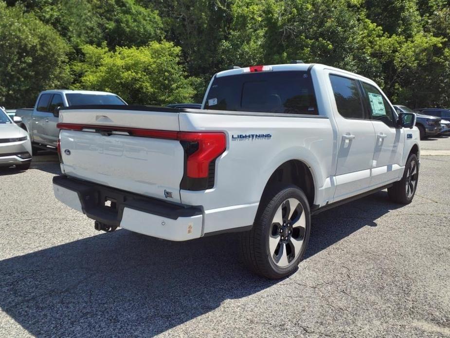
<path fill-rule="evenodd" d="M 396 128 L 396 114 L 378 88 L 361 81 L 364 104 L 375 130 L 371 186 L 382 186 L 397 180 L 402 172 L 401 160 L 405 141 L 404 129 Z"/>

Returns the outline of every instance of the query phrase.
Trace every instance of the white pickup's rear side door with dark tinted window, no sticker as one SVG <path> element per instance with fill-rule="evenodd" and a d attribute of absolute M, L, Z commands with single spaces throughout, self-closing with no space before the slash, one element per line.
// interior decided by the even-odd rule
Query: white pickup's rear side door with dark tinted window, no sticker
<path fill-rule="evenodd" d="M 375 131 L 366 118 L 357 78 L 329 73 L 332 107 L 338 127 L 338 158 L 334 200 L 364 192 L 370 186 Z"/>

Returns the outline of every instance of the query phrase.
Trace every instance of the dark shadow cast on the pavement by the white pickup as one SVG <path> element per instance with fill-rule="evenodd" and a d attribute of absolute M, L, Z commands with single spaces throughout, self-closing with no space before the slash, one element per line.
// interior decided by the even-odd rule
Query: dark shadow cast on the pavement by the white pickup
<path fill-rule="evenodd" d="M 379 192 L 318 215 L 306 259 L 396 207 Z M 0 307 L 37 337 L 154 336 L 278 282 L 247 272 L 236 240 L 120 229 L 12 257 L 0 261 Z"/>

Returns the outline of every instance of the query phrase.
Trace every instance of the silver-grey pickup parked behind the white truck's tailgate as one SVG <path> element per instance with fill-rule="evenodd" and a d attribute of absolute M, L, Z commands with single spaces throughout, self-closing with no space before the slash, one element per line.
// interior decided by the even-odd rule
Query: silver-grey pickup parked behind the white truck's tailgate
<path fill-rule="evenodd" d="M 18 109 L 16 116 L 22 118 L 20 127 L 30 134 L 33 155 L 42 149 L 56 150 L 59 137 L 56 124 L 60 108 L 86 105 L 126 105 L 126 102 L 108 92 L 51 90 L 39 94 L 34 108 Z M 98 121 L 102 117 L 96 118 Z"/>

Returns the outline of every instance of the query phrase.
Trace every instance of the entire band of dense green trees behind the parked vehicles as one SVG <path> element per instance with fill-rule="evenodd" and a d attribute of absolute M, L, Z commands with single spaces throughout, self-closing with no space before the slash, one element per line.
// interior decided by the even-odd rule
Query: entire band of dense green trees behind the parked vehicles
<path fill-rule="evenodd" d="M 199 101 L 233 65 L 301 59 L 375 79 L 394 103 L 450 107 L 449 0 L 0 0 L 0 105 L 40 90 Z"/>

